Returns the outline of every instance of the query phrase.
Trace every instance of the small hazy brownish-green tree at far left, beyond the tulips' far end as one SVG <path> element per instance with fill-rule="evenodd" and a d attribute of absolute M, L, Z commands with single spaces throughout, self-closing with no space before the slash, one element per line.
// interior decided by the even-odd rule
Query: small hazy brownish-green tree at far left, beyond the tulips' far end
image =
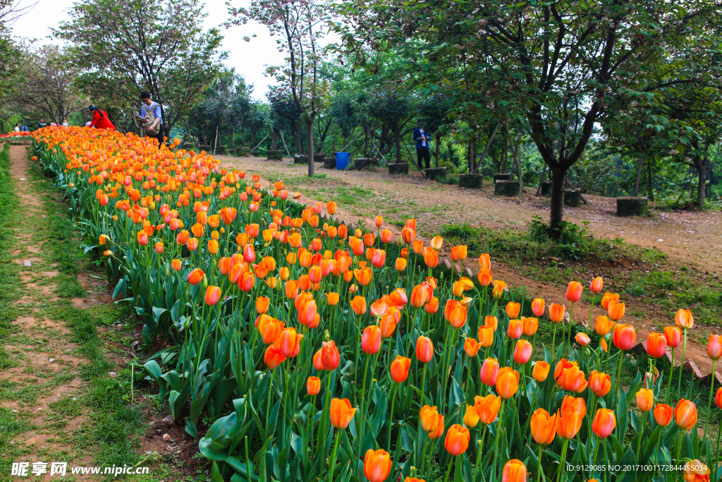
<path fill-rule="evenodd" d="M 71 65 L 65 51 L 54 45 L 24 48 L 12 87 L 14 104 L 21 112 L 52 119 L 56 124 L 84 104 L 74 80 L 78 69 Z"/>

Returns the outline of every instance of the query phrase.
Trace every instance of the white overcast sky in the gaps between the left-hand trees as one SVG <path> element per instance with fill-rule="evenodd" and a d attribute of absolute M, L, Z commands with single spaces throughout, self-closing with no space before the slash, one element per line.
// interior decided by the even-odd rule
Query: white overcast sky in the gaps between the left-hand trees
<path fill-rule="evenodd" d="M 205 27 L 218 27 L 225 22 L 229 15 L 225 0 L 206 0 Z M 58 40 L 50 38 L 51 28 L 57 27 L 62 20 L 68 20 L 67 10 L 73 0 L 40 0 L 35 9 L 21 17 L 12 25 L 13 34 L 18 37 L 38 38 L 44 42 L 56 43 Z M 235 6 L 250 4 L 248 0 L 233 0 Z M 266 27 L 257 23 L 248 22 L 240 27 L 220 28 L 224 36 L 222 50 L 228 52 L 225 64 L 235 67 L 238 74 L 245 77 L 246 82 L 253 84 L 253 97 L 258 100 L 266 99 L 268 85 L 275 83 L 269 77 L 264 77 L 264 65 L 280 65 L 283 62 L 282 54 L 276 48 L 274 38 L 268 33 Z M 243 41 L 248 35 L 250 42 Z"/>

